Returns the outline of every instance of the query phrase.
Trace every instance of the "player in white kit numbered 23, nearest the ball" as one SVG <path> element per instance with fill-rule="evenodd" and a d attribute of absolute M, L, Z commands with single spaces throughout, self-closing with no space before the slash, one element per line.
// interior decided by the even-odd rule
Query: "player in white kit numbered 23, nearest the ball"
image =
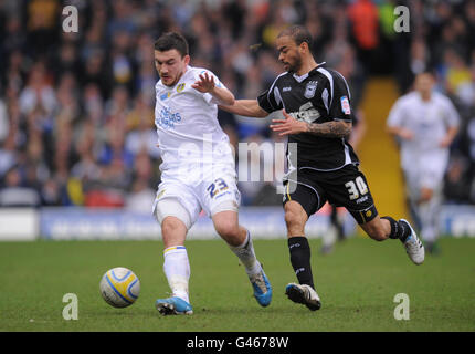
<path fill-rule="evenodd" d="M 177 32 L 155 42 L 155 124 L 162 164 L 154 215 L 161 226 L 163 272 L 171 296 L 157 299 L 163 314 L 192 314 L 190 263 L 184 240 L 201 210 L 244 266 L 262 306 L 272 288 L 256 259 L 250 232 L 239 225 L 240 192 L 229 137 L 218 123 L 217 104 L 233 104 L 234 95 L 208 70 L 189 65 L 188 43 Z"/>

